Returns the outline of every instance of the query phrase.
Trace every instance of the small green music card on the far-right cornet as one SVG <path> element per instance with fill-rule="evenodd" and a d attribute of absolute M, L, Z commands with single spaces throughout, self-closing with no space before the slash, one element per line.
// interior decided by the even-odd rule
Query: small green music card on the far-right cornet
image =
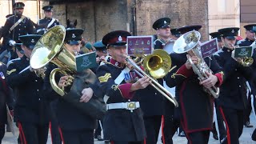
<path fill-rule="evenodd" d="M 254 50 L 252 46 L 237 47 L 232 51 L 233 58 L 250 58 L 253 56 Z"/>

